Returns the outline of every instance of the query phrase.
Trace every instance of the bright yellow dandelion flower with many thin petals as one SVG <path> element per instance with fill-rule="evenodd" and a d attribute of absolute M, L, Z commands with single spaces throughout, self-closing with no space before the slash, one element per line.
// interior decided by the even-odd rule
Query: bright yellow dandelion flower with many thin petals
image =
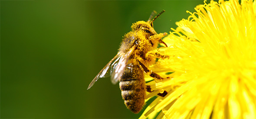
<path fill-rule="evenodd" d="M 171 56 L 152 70 L 171 77 L 155 82 L 158 93 L 140 119 L 238 118 L 256 119 L 256 2 L 210 1 L 177 22 L 158 49 Z M 146 101 L 147 101 L 146 100 Z"/>

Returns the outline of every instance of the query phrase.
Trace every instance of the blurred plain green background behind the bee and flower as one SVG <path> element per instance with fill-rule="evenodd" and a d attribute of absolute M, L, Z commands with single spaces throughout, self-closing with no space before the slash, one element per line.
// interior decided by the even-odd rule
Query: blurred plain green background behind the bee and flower
<path fill-rule="evenodd" d="M 1 0 L 0 118 L 138 118 L 118 85 L 92 79 L 117 53 L 132 23 L 166 10 L 155 30 L 169 32 L 203 0 Z"/>

